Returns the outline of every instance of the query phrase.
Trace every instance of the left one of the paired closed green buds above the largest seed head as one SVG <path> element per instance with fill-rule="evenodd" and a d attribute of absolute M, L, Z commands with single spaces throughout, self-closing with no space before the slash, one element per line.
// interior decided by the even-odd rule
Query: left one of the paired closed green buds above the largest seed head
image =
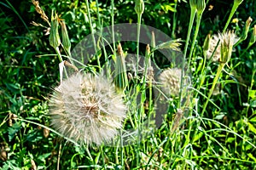
<path fill-rule="evenodd" d="M 61 44 L 61 39 L 59 36 L 59 20 L 58 15 L 52 13 L 51 14 L 51 22 L 50 22 L 50 31 L 49 31 L 49 45 L 53 48 L 57 48 Z"/>

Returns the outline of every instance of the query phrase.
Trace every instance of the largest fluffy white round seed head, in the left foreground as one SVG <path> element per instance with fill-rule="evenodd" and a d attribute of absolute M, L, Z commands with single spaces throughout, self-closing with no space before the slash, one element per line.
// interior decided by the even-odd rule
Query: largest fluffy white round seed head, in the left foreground
<path fill-rule="evenodd" d="M 122 127 L 126 107 L 102 76 L 74 74 L 55 88 L 49 100 L 51 124 L 79 144 L 108 142 Z"/>

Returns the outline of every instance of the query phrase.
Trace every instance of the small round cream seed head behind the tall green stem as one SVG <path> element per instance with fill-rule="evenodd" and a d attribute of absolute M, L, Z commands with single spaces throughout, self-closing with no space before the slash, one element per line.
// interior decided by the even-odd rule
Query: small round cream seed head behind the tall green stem
<path fill-rule="evenodd" d="M 161 72 L 159 80 L 164 93 L 178 96 L 180 89 L 182 70 L 179 68 L 168 68 Z"/>

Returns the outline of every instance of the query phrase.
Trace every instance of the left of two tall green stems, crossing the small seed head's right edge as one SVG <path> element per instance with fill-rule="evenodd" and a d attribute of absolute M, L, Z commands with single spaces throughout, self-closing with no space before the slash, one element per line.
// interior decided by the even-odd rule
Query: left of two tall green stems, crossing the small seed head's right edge
<path fill-rule="evenodd" d="M 189 37 L 190 37 L 191 30 L 192 30 L 192 27 L 193 27 L 193 23 L 194 23 L 194 19 L 195 19 L 195 13 L 196 13 L 196 8 L 191 8 L 190 19 L 189 19 L 189 30 L 188 30 L 187 39 L 186 39 L 186 43 L 185 43 L 184 54 L 183 54 L 182 74 L 181 74 L 181 81 L 180 81 L 181 89 L 179 91 L 179 101 L 178 101 L 178 104 L 177 104 L 177 108 L 180 108 L 181 102 L 182 102 L 183 70 L 185 68 L 186 55 L 187 55 L 188 46 L 189 46 Z"/>

